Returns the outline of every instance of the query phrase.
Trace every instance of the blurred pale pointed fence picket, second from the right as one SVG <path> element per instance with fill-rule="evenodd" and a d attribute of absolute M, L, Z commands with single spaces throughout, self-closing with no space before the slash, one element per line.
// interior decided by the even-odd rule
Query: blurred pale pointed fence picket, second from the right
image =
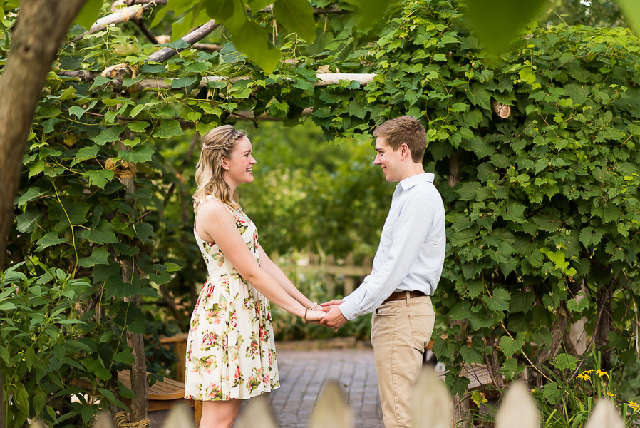
<path fill-rule="evenodd" d="M 540 412 L 525 385 L 512 384 L 495 415 L 496 428 L 539 428 Z"/>

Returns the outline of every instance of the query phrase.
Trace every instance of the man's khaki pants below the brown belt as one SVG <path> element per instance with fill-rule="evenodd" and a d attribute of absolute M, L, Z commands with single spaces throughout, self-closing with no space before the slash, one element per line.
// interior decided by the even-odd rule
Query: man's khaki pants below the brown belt
<path fill-rule="evenodd" d="M 371 343 L 385 428 L 411 427 L 413 386 L 434 322 L 429 296 L 383 302 L 373 312 Z"/>

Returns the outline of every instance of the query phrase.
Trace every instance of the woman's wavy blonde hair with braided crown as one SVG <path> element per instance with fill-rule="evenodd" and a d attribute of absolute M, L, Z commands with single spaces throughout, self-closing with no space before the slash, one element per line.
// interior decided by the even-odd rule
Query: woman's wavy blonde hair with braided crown
<path fill-rule="evenodd" d="M 202 136 L 202 151 L 200 161 L 195 170 L 197 190 L 193 194 L 193 210 L 198 204 L 214 195 L 220 202 L 231 208 L 240 208 L 234 200 L 231 189 L 222 178 L 222 158 L 230 158 L 235 143 L 247 133 L 239 131 L 231 125 L 218 126 Z"/>

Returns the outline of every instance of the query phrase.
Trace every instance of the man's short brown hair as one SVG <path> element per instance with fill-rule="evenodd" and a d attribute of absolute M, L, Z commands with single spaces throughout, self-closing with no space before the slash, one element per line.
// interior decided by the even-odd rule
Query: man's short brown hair
<path fill-rule="evenodd" d="M 393 151 L 398 150 L 402 144 L 406 144 L 411 150 L 411 161 L 421 163 L 427 148 L 427 133 L 422 123 L 413 116 L 400 116 L 382 123 L 374 137 L 382 137 Z"/>

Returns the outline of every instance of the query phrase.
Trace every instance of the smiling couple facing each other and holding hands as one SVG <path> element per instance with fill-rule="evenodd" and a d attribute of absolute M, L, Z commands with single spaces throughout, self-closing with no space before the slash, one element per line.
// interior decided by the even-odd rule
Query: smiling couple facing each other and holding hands
<path fill-rule="evenodd" d="M 371 342 L 386 428 L 411 427 L 411 391 L 431 337 L 431 305 L 445 257 L 445 212 L 425 173 L 426 133 L 411 116 L 382 123 L 374 165 L 399 182 L 371 275 L 344 300 L 317 305 L 269 259 L 257 229 L 234 199 L 252 183 L 246 133 L 219 126 L 202 137 L 197 165 L 194 235 L 205 259 L 187 340 L 185 397 L 201 400 L 200 428 L 231 427 L 240 400 L 279 387 L 269 302 L 334 330 L 373 312 Z"/>

